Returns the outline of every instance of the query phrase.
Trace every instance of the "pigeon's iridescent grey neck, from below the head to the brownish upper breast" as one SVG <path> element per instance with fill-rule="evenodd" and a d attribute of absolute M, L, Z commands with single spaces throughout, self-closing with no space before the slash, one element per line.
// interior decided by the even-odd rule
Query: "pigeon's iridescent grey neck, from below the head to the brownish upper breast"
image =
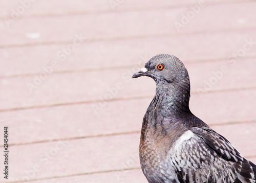
<path fill-rule="evenodd" d="M 193 118 L 188 107 L 189 93 L 189 87 L 157 83 L 156 95 L 143 119 L 140 149 L 146 147 L 149 151 L 169 151 L 179 136 L 188 129 L 187 123 Z"/>

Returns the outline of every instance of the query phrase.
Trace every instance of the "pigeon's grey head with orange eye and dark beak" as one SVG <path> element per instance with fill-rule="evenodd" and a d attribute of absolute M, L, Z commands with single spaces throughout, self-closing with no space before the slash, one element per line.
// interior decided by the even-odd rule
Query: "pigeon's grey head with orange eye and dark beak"
<path fill-rule="evenodd" d="M 159 54 L 151 58 L 133 78 L 148 76 L 153 78 L 156 83 L 180 83 L 188 82 L 189 77 L 184 64 L 175 56 Z M 187 83 L 186 82 L 186 83 Z"/>

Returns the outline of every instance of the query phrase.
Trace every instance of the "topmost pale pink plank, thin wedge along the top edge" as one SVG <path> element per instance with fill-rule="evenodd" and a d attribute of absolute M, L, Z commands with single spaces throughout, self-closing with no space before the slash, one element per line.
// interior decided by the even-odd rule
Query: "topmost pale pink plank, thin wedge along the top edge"
<path fill-rule="evenodd" d="M 222 4 L 228 3 L 230 0 L 218 0 L 215 2 L 207 2 L 207 4 Z M 232 1 L 232 2 L 244 2 L 244 1 Z M 247 0 L 247 2 L 249 2 Z M 197 0 L 184 0 L 182 2 L 177 1 L 153 1 L 153 0 L 130 0 L 130 1 L 82 1 L 77 0 L 76 3 L 68 0 L 46 0 L 44 3 L 40 1 L 23 1 L 13 0 L 10 2 L 2 2 L 2 6 L 5 7 L 0 11 L 0 17 L 12 17 L 15 16 L 15 12 L 20 13 L 22 17 L 29 16 L 51 16 L 51 15 L 63 15 L 63 14 L 85 14 L 85 13 L 102 13 L 112 11 L 134 11 L 145 9 L 157 9 L 166 7 L 180 7 L 197 5 Z M 50 5 L 50 6 L 49 6 Z M 24 7 L 24 8 L 22 8 Z M 13 9 L 13 10 L 12 10 Z"/>

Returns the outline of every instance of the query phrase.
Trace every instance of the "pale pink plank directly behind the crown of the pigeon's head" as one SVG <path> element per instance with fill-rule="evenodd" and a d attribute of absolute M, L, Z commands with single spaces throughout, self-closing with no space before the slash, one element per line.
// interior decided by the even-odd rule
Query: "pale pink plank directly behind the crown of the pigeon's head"
<path fill-rule="evenodd" d="M 255 42 L 255 30 L 83 42 L 73 52 L 67 52 L 68 55 L 63 50 L 67 50 L 69 44 L 6 48 L 0 49 L 0 60 L 3 60 L 0 77 L 39 74 L 48 67 L 52 68 L 48 69 L 50 72 L 56 73 L 142 66 L 160 53 L 173 54 L 184 63 L 225 61 L 230 57 L 239 60 L 256 57 L 255 44 L 251 47 L 247 44 L 250 40 Z M 243 52 L 245 44 L 249 50 Z M 238 53 L 240 56 L 236 58 Z M 53 60 L 58 63 L 54 68 Z"/>

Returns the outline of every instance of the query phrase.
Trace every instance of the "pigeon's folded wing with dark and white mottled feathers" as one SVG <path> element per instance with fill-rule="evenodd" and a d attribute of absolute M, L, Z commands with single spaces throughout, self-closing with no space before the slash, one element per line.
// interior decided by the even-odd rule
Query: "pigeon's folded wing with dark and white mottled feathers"
<path fill-rule="evenodd" d="M 191 128 L 193 136 L 171 157 L 180 182 L 255 182 L 256 166 L 210 128 Z"/>

